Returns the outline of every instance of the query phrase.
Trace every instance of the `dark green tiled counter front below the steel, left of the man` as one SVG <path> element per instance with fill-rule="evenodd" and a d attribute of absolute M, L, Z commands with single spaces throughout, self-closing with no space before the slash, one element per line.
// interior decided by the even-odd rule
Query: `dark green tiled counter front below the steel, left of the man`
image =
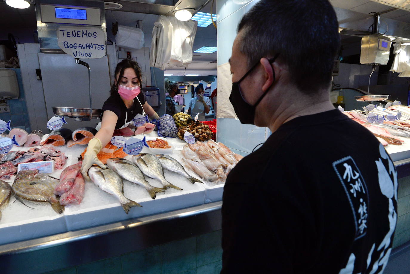
<path fill-rule="evenodd" d="M 46 274 L 219 274 L 221 230 Z"/>

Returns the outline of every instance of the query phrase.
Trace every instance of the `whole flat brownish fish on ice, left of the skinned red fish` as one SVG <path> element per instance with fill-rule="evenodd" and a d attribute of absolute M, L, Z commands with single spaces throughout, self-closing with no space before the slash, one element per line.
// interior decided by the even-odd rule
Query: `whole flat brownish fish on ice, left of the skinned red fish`
<path fill-rule="evenodd" d="M 50 203 L 52 209 L 61 214 L 64 206 L 56 199 L 53 191 L 59 180 L 46 174 L 39 174 L 39 170 L 22 170 L 14 178 L 11 189 L 14 197 L 24 204 L 25 200 L 36 203 Z"/>

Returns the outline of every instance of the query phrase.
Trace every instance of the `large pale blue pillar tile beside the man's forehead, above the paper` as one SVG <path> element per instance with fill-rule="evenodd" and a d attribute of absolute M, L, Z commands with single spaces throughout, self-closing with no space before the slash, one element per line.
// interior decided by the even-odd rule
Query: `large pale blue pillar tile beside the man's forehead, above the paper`
<path fill-rule="evenodd" d="M 218 60 L 218 65 L 228 62 L 232 54 L 232 45 L 236 37 L 236 29 L 243 15 L 244 8 L 241 7 L 236 12 L 226 17 L 224 20 L 218 21 L 218 32 L 216 35 L 216 41 L 218 44 L 216 59 Z"/>

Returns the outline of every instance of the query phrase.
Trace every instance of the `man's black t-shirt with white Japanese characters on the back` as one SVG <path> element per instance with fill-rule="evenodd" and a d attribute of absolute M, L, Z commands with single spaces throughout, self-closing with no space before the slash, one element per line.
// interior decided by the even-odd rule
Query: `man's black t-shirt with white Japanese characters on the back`
<path fill-rule="evenodd" d="M 381 273 L 396 199 L 370 131 L 339 110 L 297 117 L 228 175 L 221 273 Z"/>

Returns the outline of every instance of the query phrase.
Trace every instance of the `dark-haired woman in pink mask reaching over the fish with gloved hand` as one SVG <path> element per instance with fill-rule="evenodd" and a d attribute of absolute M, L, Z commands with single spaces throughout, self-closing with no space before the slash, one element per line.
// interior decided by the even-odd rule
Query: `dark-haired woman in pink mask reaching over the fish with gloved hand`
<path fill-rule="evenodd" d="M 109 92 L 110 96 L 102 108 L 101 122 L 96 127 L 98 132 L 89 141 L 84 154 L 81 167 L 84 177 L 88 177 L 88 169 L 93 164 L 106 168 L 97 154 L 111 140 L 115 129 L 128 127 L 137 114 L 148 114 L 151 119 L 159 117 L 146 102 L 144 92 L 141 92 L 141 69 L 137 62 L 125 59 L 117 64 L 114 85 Z"/>

